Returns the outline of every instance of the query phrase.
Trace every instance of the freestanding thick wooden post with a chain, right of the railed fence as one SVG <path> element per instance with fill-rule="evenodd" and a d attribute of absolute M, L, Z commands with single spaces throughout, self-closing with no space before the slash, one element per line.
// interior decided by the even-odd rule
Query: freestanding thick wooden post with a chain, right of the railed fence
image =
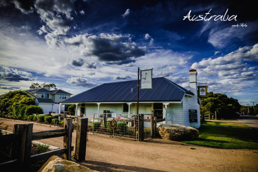
<path fill-rule="evenodd" d="M 85 160 L 87 145 L 88 118 L 77 118 L 77 132 L 75 143 L 75 159 Z"/>

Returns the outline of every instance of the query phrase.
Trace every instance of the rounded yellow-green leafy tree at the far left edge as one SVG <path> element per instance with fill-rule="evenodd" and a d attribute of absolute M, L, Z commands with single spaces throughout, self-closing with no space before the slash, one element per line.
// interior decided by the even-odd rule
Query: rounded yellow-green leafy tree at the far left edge
<path fill-rule="evenodd" d="M 0 97 L 0 113 L 10 114 L 18 104 L 35 105 L 35 101 L 21 90 L 9 91 Z"/>

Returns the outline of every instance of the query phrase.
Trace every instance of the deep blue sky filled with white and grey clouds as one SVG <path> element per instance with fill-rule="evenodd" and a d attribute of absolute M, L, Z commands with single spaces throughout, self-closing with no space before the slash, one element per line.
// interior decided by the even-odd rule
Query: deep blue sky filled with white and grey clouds
<path fill-rule="evenodd" d="M 32 82 L 78 94 L 153 68 L 189 89 L 189 69 L 208 91 L 258 102 L 256 7 L 224 1 L 0 0 L 0 94 Z M 191 15 L 236 21 L 189 21 Z M 232 27 L 244 23 L 247 27 Z"/>

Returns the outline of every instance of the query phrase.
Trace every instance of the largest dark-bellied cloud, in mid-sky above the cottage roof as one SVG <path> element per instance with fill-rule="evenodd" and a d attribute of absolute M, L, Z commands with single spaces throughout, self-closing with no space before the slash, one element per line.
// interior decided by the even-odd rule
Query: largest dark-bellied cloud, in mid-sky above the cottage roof
<path fill-rule="evenodd" d="M 81 55 L 96 56 L 105 64 L 122 65 L 135 62 L 137 57 L 145 55 L 146 47 L 131 41 L 128 35 L 104 34 L 77 35 L 66 39 L 66 44 L 77 46 Z"/>

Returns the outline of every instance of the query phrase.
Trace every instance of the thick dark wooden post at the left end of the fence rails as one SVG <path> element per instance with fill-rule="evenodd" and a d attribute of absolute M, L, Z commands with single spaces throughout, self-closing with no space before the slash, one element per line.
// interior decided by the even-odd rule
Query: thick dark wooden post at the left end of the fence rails
<path fill-rule="evenodd" d="M 13 129 L 13 133 L 20 133 L 20 137 L 12 144 L 10 160 L 17 158 L 19 165 L 25 169 L 30 165 L 32 128 L 33 124 L 15 124 Z"/>

